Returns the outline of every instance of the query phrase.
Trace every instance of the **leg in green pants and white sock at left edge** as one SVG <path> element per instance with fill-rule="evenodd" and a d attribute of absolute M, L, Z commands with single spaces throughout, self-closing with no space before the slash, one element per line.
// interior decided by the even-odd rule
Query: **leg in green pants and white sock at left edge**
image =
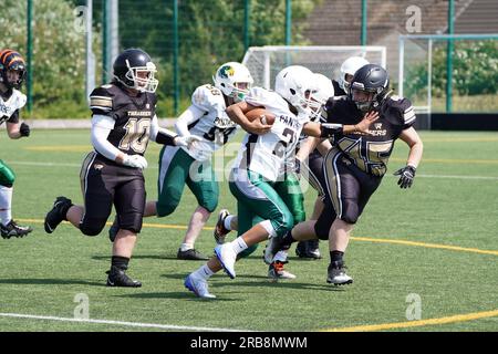
<path fill-rule="evenodd" d="M 4 239 L 24 237 L 33 231 L 29 226 L 20 226 L 12 219 L 12 191 L 15 174 L 0 159 L 0 231 Z"/>

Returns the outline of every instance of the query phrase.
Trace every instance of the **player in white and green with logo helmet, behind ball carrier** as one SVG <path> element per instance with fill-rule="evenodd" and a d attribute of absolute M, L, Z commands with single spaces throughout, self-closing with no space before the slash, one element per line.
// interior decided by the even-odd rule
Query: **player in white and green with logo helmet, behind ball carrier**
<path fill-rule="evenodd" d="M 253 83 L 249 70 L 237 62 L 220 65 L 212 80 L 215 85 L 205 84 L 194 91 L 191 105 L 175 124 L 179 136 L 196 137 L 198 140 L 190 148 L 163 147 L 159 155 L 158 200 L 147 201 L 145 210 L 145 217 L 173 214 L 179 205 L 185 185 L 188 186 L 198 206 L 177 252 L 177 258 L 183 260 L 208 259 L 194 244 L 218 206 L 218 180 L 210 159 L 216 150 L 235 136 L 238 128 L 225 110 L 242 101 Z M 111 238 L 115 226 L 110 230 Z"/>

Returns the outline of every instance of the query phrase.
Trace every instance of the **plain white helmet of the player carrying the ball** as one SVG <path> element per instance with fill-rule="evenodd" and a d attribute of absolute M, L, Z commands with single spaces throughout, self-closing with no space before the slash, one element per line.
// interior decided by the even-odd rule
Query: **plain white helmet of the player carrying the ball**
<path fill-rule="evenodd" d="M 312 92 L 317 88 L 313 72 L 301 65 L 282 69 L 274 80 L 274 91 L 299 112 L 311 114 Z M 315 104 L 315 102 L 314 102 Z"/>

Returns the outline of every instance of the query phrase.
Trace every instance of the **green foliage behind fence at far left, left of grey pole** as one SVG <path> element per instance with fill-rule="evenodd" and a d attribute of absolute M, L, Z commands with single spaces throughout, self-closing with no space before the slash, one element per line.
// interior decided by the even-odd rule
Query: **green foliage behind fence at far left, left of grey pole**
<path fill-rule="evenodd" d="M 27 58 L 25 1 L 4 0 L 0 11 L 0 48 L 15 49 Z M 76 27 L 74 6 L 33 1 L 32 45 L 33 117 L 72 117 L 75 113 L 82 117 L 83 112 L 87 116 L 85 34 Z"/>

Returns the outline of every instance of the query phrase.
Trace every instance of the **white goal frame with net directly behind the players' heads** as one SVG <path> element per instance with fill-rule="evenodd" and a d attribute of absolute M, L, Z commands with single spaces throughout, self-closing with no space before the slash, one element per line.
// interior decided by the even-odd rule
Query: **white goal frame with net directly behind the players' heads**
<path fill-rule="evenodd" d="M 350 56 L 363 56 L 373 64 L 386 67 L 386 48 L 380 45 L 264 45 L 251 46 L 243 56 L 255 86 L 272 88 L 274 76 L 289 65 L 303 65 L 330 79 L 339 77 L 339 70 Z"/>

